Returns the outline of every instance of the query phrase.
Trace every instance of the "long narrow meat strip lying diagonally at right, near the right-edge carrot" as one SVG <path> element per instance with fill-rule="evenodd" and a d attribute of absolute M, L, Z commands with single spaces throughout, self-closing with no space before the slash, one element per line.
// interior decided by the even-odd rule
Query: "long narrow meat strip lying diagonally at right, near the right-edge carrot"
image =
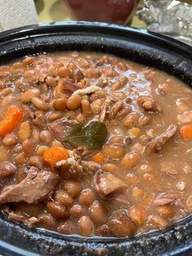
<path fill-rule="evenodd" d="M 156 136 L 155 139 L 152 139 L 151 142 L 146 144 L 146 155 L 150 155 L 151 152 L 158 152 L 161 150 L 164 143 L 166 143 L 168 139 L 175 135 L 176 131 L 177 126 L 168 126 L 168 129 L 163 134 Z"/>

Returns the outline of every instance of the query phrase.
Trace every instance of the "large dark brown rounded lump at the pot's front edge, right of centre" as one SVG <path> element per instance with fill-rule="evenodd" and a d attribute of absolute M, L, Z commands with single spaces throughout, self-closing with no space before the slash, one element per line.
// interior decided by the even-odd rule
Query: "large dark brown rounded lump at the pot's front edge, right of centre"
<path fill-rule="evenodd" d="M 107 221 L 107 226 L 117 237 L 133 236 L 136 232 L 135 223 L 129 218 L 126 210 L 117 210 Z"/>

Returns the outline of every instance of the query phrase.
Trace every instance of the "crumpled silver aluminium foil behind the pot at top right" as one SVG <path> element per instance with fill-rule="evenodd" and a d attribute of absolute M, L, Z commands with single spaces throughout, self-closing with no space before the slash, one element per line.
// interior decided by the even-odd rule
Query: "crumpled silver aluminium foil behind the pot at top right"
<path fill-rule="evenodd" d="M 192 5 L 178 0 L 144 0 L 137 15 L 147 29 L 192 46 Z"/>

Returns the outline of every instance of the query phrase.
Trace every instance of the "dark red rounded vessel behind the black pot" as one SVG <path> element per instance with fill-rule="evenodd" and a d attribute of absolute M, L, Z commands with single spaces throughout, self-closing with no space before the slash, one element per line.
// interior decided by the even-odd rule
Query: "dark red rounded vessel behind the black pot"
<path fill-rule="evenodd" d="M 71 20 L 124 24 L 137 7 L 137 0 L 61 0 Z"/>

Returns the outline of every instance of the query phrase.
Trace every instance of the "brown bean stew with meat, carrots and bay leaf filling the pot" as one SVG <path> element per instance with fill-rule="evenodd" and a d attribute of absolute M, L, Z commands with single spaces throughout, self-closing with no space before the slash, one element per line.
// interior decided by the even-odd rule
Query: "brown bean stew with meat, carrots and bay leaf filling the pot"
<path fill-rule="evenodd" d="M 133 236 L 192 211 L 192 91 L 116 56 L 0 66 L 0 205 L 66 235 Z"/>

